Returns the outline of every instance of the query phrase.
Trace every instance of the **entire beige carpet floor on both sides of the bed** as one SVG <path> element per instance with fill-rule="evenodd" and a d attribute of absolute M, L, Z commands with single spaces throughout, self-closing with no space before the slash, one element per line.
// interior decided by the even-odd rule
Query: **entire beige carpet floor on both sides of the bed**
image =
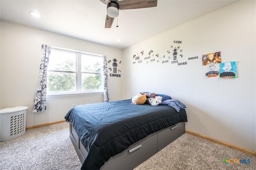
<path fill-rule="evenodd" d="M 0 170 L 79 170 L 68 123 L 27 130 L 0 143 Z M 223 158 L 250 164 L 223 164 Z M 247 161 L 248 162 L 248 161 Z M 255 170 L 256 157 L 184 134 L 134 170 Z M 122 170 L 122 167 L 120 167 Z"/>

